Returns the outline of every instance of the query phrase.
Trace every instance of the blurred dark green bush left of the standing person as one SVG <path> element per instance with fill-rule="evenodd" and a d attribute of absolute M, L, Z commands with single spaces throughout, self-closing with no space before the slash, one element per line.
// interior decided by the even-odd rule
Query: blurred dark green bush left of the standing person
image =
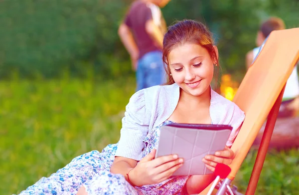
<path fill-rule="evenodd" d="M 0 2 L 0 77 L 53 77 L 85 65 L 102 75 L 131 70 L 117 35 L 128 2 L 4 0 Z M 117 66 L 118 70 L 114 70 Z M 99 67 L 97 67 L 99 66 Z M 111 71 L 114 70 L 114 71 Z M 114 75 L 117 76 L 117 75 Z"/>

